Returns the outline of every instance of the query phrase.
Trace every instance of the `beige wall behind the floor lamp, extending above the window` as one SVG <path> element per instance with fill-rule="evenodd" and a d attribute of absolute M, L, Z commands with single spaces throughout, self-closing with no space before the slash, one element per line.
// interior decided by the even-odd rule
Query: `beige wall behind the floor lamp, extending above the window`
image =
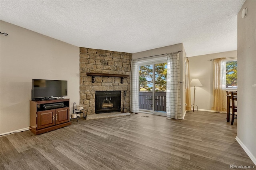
<path fill-rule="evenodd" d="M 190 81 L 199 79 L 202 87 L 196 87 L 195 105 L 198 109 L 211 110 L 212 107 L 212 87 L 213 87 L 213 61 L 210 59 L 221 57 L 237 57 L 237 51 L 213 53 L 188 57 L 190 67 Z M 194 87 L 190 87 L 191 104 L 194 101 Z"/>

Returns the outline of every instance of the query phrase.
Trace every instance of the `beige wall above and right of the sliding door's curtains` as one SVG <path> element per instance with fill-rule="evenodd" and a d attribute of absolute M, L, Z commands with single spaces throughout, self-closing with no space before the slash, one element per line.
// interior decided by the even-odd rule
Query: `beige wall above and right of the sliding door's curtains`
<path fill-rule="evenodd" d="M 160 55 L 160 54 L 165 54 L 165 53 L 173 53 L 173 52 L 177 52 L 177 51 L 182 51 L 183 48 L 183 44 L 179 43 L 179 44 L 175 44 L 175 45 L 169 45 L 166 47 L 160 47 L 160 48 L 155 48 L 155 49 L 150 49 L 147 51 L 142 51 L 142 52 L 138 52 L 138 53 L 133 53 L 132 54 L 132 59 L 140 59 L 143 57 L 148 57 L 148 56 L 152 56 L 152 55 Z M 184 53 L 185 51 L 179 53 L 180 55 L 180 81 L 184 82 L 185 81 L 185 77 L 184 77 Z M 164 55 L 160 55 L 160 56 L 156 56 L 155 58 L 158 57 L 163 57 Z M 147 58 L 149 59 L 149 58 Z M 185 109 L 185 97 L 184 97 L 184 83 L 180 84 L 180 98 L 181 98 L 181 104 L 182 104 L 182 114 L 184 116 L 184 113 L 186 111 Z"/>

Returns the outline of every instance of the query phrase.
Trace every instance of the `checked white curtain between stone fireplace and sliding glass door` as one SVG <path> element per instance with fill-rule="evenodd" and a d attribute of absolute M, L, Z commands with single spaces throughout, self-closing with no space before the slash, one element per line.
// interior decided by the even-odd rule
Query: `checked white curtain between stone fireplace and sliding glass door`
<path fill-rule="evenodd" d="M 131 112 L 139 111 L 139 78 L 138 78 L 138 60 L 133 59 L 131 63 L 131 96 L 130 110 Z"/>

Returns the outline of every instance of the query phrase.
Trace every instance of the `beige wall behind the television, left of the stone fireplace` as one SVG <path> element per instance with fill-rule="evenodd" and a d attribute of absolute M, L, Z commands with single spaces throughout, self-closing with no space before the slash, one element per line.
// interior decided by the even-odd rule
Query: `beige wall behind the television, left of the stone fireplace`
<path fill-rule="evenodd" d="M 29 127 L 32 79 L 67 80 L 79 103 L 79 47 L 3 21 L 1 31 L 0 134 Z"/>

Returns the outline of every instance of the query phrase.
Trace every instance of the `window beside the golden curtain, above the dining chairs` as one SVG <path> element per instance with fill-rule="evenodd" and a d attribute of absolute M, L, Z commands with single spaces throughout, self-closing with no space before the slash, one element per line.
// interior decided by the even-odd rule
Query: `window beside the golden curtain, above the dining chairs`
<path fill-rule="evenodd" d="M 226 59 L 226 89 L 237 89 L 237 59 Z"/>

